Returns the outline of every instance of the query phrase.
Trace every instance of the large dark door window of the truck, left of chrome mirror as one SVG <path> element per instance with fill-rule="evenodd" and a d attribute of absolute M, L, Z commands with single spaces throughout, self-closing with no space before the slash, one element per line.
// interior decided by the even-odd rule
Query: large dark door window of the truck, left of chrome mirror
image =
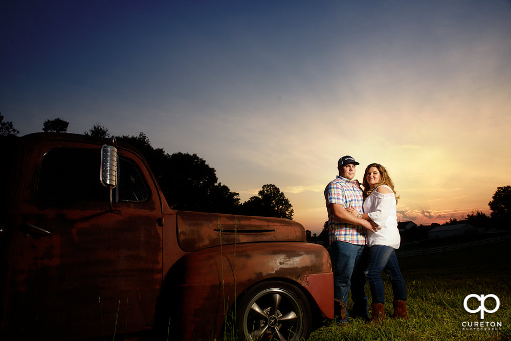
<path fill-rule="evenodd" d="M 42 158 L 37 194 L 41 199 L 108 201 L 109 192 L 99 179 L 99 149 L 52 149 Z"/>

